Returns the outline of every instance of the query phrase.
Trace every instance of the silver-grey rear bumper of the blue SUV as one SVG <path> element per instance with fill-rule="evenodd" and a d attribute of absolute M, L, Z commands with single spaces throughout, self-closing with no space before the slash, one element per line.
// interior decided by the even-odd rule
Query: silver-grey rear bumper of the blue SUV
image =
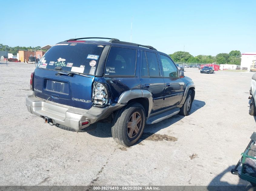
<path fill-rule="evenodd" d="M 26 106 L 30 113 L 39 117 L 50 118 L 52 123 L 70 127 L 78 132 L 100 119 L 105 119 L 113 111 L 124 105 L 115 103 L 104 108 L 91 107 L 89 110 L 85 110 L 40 99 L 35 97 L 33 92 L 32 95 L 27 95 Z M 82 123 L 87 121 L 89 123 L 82 126 Z"/>

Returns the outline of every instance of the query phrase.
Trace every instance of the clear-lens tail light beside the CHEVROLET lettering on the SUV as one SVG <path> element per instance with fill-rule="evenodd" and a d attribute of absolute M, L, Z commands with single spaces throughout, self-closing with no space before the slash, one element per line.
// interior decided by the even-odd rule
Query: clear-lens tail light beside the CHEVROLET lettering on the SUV
<path fill-rule="evenodd" d="M 104 106 L 108 103 L 108 91 L 104 84 L 94 82 L 92 100 L 95 106 Z"/>

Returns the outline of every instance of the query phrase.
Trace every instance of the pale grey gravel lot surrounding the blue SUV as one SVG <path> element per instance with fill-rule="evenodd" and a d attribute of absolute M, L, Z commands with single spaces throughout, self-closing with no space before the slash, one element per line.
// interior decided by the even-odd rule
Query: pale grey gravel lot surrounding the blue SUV
<path fill-rule="evenodd" d="M 255 130 L 253 73 L 185 68 L 196 84 L 191 115 L 147 125 L 140 143 L 125 148 L 110 124 L 76 133 L 29 113 L 34 68 L 0 63 L 0 185 L 248 185 L 230 170 Z"/>

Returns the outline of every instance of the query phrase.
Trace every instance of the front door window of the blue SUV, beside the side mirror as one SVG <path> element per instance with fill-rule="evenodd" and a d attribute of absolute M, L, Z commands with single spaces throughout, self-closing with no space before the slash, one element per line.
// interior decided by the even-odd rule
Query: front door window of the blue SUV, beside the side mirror
<path fill-rule="evenodd" d="M 163 66 L 164 77 L 178 78 L 178 70 L 175 64 L 172 62 L 172 60 L 169 59 L 167 56 L 164 56 L 161 54 L 160 54 L 160 58 Z"/>

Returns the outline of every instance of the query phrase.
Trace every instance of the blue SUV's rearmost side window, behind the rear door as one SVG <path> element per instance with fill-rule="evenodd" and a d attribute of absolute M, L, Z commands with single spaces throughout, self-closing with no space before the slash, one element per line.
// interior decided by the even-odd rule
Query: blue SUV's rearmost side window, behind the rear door
<path fill-rule="evenodd" d="M 105 66 L 105 76 L 133 77 L 135 75 L 136 50 L 112 47 Z"/>

